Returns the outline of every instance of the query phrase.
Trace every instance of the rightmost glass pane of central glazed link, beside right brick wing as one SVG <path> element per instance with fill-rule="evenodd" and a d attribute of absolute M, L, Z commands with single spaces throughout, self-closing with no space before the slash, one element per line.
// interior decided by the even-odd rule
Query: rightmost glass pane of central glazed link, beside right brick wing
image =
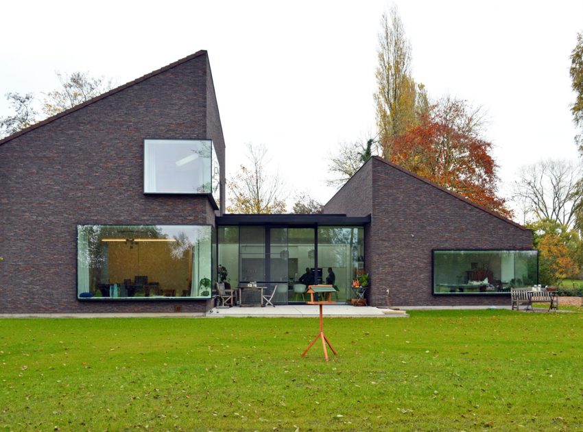
<path fill-rule="evenodd" d="M 364 228 L 318 228 L 318 267 L 324 270 L 324 283 L 337 288 L 339 300 L 351 298 L 353 279 L 366 273 Z"/>

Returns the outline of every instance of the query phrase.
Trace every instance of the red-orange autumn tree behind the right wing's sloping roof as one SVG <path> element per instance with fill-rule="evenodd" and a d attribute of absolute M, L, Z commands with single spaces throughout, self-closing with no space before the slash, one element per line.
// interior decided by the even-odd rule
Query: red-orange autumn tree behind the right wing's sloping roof
<path fill-rule="evenodd" d="M 480 108 L 443 97 L 420 123 L 394 140 L 390 160 L 468 200 L 510 217 L 497 197 L 497 165 L 492 143 L 483 137 Z"/>

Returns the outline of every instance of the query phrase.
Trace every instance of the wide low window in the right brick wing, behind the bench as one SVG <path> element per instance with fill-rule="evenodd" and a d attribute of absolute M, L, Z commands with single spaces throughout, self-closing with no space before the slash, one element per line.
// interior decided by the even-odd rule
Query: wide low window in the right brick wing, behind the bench
<path fill-rule="evenodd" d="M 433 250 L 433 293 L 499 294 L 538 284 L 538 250 Z"/>

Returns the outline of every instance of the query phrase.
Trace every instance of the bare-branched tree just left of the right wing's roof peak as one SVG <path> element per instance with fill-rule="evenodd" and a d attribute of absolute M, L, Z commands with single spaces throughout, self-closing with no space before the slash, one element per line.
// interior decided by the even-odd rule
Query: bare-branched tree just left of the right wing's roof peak
<path fill-rule="evenodd" d="M 332 178 L 327 183 L 330 186 L 341 187 L 371 156 L 377 154 L 379 154 L 378 141 L 372 138 L 340 144 L 337 154 L 330 159 L 328 170 Z"/>

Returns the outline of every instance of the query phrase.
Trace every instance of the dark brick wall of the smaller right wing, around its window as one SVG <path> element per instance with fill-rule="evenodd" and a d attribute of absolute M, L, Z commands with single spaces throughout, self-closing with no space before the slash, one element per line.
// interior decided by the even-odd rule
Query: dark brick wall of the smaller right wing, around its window
<path fill-rule="evenodd" d="M 509 304 L 508 296 L 433 296 L 431 250 L 528 249 L 532 233 L 481 210 L 380 158 L 366 163 L 372 175 L 372 221 L 367 227 L 366 260 L 372 280 L 370 304 Z M 363 171 L 363 169 L 361 169 Z M 360 172 L 360 171 L 359 171 Z M 355 181 L 354 184 L 350 184 Z M 326 213 L 350 212 L 366 179 L 353 178 L 324 207 Z M 362 193 L 361 193 L 362 194 Z M 330 211 L 330 212 L 329 212 Z M 386 289 L 390 289 L 387 295 Z"/>

